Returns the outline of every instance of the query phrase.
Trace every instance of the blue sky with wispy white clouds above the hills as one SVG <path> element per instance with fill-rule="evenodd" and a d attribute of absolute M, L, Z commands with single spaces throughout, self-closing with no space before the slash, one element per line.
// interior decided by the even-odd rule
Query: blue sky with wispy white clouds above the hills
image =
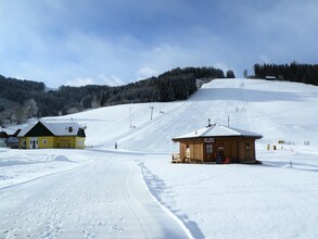
<path fill-rule="evenodd" d="M 0 74 L 122 85 L 174 67 L 318 63 L 317 0 L 0 0 Z"/>

